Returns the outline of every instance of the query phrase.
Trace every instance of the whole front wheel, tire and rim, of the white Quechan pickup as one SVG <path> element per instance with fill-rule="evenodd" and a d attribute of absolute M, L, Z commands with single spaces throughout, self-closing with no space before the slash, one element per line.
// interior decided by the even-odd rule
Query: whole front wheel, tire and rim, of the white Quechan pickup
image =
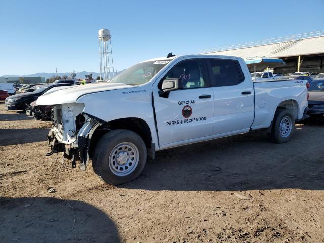
<path fill-rule="evenodd" d="M 95 173 L 106 183 L 119 185 L 136 179 L 146 163 L 146 146 L 135 132 L 117 129 L 106 133 L 92 156 Z"/>

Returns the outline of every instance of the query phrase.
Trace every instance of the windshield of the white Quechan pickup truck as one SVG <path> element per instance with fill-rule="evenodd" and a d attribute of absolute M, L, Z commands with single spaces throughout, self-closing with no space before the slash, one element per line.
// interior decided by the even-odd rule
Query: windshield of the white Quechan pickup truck
<path fill-rule="evenodd" d="M 110 83 L 141 85 L 149 82 L 170 60 L 159 60 L 138 63 L 110 80 Z"/>

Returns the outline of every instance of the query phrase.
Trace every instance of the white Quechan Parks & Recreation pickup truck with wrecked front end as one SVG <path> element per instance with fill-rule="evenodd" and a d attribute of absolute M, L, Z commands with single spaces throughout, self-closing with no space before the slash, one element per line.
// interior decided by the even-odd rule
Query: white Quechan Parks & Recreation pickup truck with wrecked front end
<path fill-rule="evenodd" d="M 138 63 L 109 83 L 49 91 L 51 152 L 89 158 L 107 183 L 134 180 L 155 151 L 265 129 L 288 142 L 307 107 L 306 80 L 252 82 L 239 57 L 186 55 Z"/>

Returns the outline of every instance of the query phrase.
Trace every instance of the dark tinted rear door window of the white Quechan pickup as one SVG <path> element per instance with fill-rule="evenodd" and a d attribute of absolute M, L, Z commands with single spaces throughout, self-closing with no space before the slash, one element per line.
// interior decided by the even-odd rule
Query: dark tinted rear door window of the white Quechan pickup
<path fill-rule="evenodd" d="M 209 59 L 208 62 L 213 86 L 237 85 L 244 80 L 237 60 Z"/>

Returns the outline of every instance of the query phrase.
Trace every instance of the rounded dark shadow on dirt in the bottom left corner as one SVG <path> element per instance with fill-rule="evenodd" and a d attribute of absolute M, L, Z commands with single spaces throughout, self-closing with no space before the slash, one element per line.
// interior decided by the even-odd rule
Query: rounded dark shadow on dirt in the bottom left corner
<path fill-rule="evenodd" d="M 120 242 L 101 210 L 52 197 L 0 198 L 0 242 Z M 73 229 L 72 229 L 73 227 Z"/>

